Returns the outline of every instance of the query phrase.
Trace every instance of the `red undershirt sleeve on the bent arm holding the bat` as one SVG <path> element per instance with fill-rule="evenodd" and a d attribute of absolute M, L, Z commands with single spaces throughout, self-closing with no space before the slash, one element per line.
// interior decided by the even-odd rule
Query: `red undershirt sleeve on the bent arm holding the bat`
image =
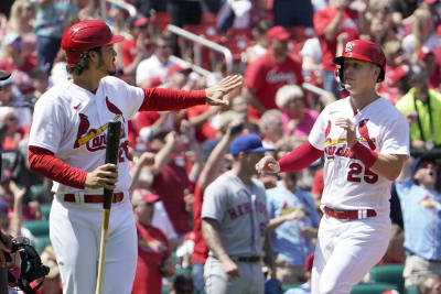
<path fill-rule="evenodd" d="M 67 165 L 47 149 L 30 145 L 28 163 L 31 171 L 37 174 L 63 185 L 84 189 L 87 172 Z"/>

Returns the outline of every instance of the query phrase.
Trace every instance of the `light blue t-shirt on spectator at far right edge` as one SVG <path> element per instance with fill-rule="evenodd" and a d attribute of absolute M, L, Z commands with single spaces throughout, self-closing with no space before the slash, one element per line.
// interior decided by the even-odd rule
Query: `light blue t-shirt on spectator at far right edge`
<path fill-rule="evenodd" d="M 441 261 L 441 194 L 409 177 L 396 182 L 405 225 L 405 249 L 426 260 Z"/>

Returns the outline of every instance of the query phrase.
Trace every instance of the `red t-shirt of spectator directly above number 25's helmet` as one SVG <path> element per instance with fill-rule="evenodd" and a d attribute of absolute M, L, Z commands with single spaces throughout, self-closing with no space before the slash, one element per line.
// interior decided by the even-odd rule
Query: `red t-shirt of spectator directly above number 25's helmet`
<path fill-rule="evenodd" d="M 322 45 L 322 63 L 323 69 L 329 72 L 335 70 L 335 65 L 332 59 L 335 57 L 337 51 L 337 41 L 336 39 L 332 41 L 327 41 L 324 37 L 324 30 L 332 22 L 332 20 L 337 14 L 337 10 L 333 7 L 326 7 L 323 10 L 319 10 L 314 13 L 313 23 L 314 31 L 319 36 L 320 44 Z M 346 12 L 342 19 L 340 24 L 340 30 L 337 35 L 346 32 L 348 34 L 347 41 L 354 40 L 358 34 L 358 15 L 354 10 L 346 9 Z"/>

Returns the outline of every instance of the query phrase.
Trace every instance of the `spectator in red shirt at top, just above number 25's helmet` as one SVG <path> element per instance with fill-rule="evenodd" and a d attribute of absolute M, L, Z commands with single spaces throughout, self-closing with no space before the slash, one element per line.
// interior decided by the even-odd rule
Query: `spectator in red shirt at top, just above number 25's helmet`
<path fill-rule="evenodd" d="M 323 51 L 323 86 L 337 99 L 341 95 L 334 77 L 335 65 L 332 62 L 336 56 L 337 39 L 343 37 L 351 41 L 358 33 L 358 13 L 349 10 L 348 3 L 348 0 L 331 0 L 330 6 L 316 11 L 313 18 L 314 30 Z"/>

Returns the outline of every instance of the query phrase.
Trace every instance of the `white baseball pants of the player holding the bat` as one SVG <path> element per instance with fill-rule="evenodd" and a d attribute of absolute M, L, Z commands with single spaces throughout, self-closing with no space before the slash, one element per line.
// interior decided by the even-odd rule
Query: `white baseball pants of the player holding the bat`
<path fill-rule="evenodd" d="M 103 204 L 53 200 L 50 237 L 65 294 L 94 294 L 97 282 Z M 137 231 L 130 202 L 111 205 L 104 294 L 130 294 L 137 269 Z"/>

